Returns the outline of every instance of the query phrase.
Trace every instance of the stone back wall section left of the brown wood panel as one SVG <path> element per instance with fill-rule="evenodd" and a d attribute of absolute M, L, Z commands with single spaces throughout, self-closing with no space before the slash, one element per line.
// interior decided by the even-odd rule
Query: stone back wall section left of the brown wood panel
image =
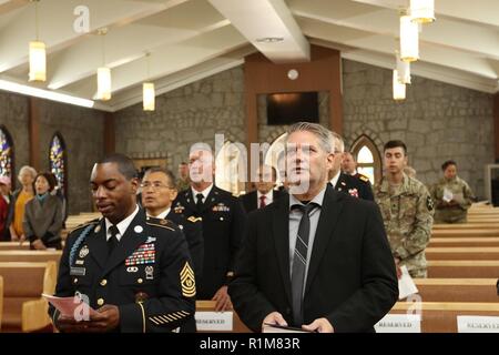
<path fill-rule="evenodd" d="M 135 159 L 166 158 L 176 173 L 192 144 L 214 149 L 215 133 L 244 143 L 244 74 L 237 67 L 157 97 L 153 112 L 144 112 L 142 103 L 116 112 L 116 151 Z"/>

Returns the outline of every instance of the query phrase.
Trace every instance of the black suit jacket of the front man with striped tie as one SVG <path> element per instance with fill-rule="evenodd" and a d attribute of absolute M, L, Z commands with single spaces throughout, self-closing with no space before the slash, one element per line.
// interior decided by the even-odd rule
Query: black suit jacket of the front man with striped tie
<path fill-rule="evenodd" d="M 272 312 L 293 324 L 288 221 L 288 195 L 248 216 L 228 292 L 255 332 Z M 373 332 L 397 297 L 395 263 L 377 205 L 327 185 L 305 285 L 304 322 L 326 317 L 335 332 Z"/>

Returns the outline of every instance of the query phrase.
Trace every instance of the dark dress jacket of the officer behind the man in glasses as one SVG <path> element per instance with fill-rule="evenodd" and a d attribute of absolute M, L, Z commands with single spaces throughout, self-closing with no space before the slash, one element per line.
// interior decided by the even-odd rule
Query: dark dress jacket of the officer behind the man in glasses
<path fill-rule="evenodd" d="M 172 209 L 184 219 L 203 219 L 204 264 L 203 277 L 197 282 L 197 300 L 211 300 L 220 287 L 227 284 L 227 273 L 234 271 L 245 233 L 244 209 L 230 192 L 216 186 L 210 191 L 201 213 L 196 210 L 191 189 L 179 194 Z"/>

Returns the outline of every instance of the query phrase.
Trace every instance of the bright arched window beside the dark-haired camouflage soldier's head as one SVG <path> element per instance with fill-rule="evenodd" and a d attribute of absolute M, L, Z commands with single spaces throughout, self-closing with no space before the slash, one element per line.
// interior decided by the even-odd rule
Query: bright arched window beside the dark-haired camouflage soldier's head
<path fill-rule="evenodd" d="M 379 182 L 383 171 L 381 156 L 367 135 L 360 135 L 352 144 L 352 154 L 357 162 L 357 172 L 369 178 L 371 184 Z"/>

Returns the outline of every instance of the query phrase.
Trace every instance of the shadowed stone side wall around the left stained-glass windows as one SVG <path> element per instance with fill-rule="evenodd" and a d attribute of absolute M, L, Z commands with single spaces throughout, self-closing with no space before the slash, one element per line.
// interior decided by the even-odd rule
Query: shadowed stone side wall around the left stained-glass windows
<path fill-rule="evenodd" d="M 92 210 L 89 178 L 93 163 L 103 153 L 103 113 L 53 101 L 38 100 L 40 114 L 40 170 L 50 169 L 49 150 L 59 132 L 68 152 L 67 184 L 69 213 Z M 0 125 L 10 133 L 14 144 L 14 170 L 30 163 L 29 99 L 0 93 Z M 19 187 L 19 183 L 17 183 Z"/>

